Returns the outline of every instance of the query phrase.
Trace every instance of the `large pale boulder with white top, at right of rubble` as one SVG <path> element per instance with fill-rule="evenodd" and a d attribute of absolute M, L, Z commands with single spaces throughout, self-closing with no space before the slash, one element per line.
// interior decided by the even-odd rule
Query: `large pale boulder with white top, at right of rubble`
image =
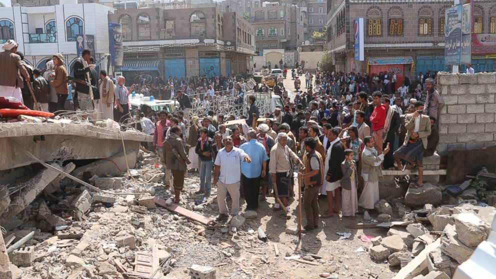
<path fill-rule="evenodd" d="M 461 243 L 475 247 L 487 239 L 490 226 L 473 213 L 460 213 L 454 216 L 456 234 Z"/>

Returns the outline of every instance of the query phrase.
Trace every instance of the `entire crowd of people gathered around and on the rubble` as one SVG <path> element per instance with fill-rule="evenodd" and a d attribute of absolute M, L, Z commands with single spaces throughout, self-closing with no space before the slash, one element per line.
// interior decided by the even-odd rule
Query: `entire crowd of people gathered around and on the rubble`
<path fill-rule="evenodd" d="M 12 79 L 0 78 L 2 93 L 27 103 L 18 81 L 32 81 L 37 94 L 43 92 L 37 98 L 39 109 L 67 109 L 67 99 L 72 96 L 74 108 L 88 111 L 87 117 L 101 113 L 115 120 L 132 119 L 134 127 L 153 135 L 152 143 L 143 145 L 159 154 L 163 184 L 173 192 L 173 202 L 180 202 L 186 172 L 197 171 L 200 186 L 196 194 L 208 198 L 212 185 L 217 187 L 218 220 L 228 218 L 227 200 L 232 201 L 230 215 L 236 215 L 241 210 L 241 196 L 245 210 L 257 210 L 259 201 L 272 193 L 273 210 L 289 217 L 289 202 L 297 187 L 303 191 L 304 231 L 317 228 L 319 218 L 337 212 L 353 218 L 362 210 L 373 210 L 379 200 L 382 169 L 415 167 L 418 176 L 411 186 L 422 186 L 422 159 L 434 153 L 438 142 L 437 118 L 444 102 L 430 73 L 420 74 L 416 85 L 405 78 L 396 88 L 395 74 L 390 72 L 371 76 L 306 72 L 305 91 L 295 91 L 291 99 L 277 84 L 274 93 L 280 94 L 283 107 L 264 115 L 258 111 L 254 95 L 246 92 L 247 101 L 243 102 L 245 92 L 235 78 L 169 78 L 166 84 L 171 95 L 166 97 L 178 100 L 176 111 L 130 113 L 129 95 L 138 88 L 125 86 L 122 76 L 112 80 L 104 70 L 97 75 L 90 50 L 82 51 L 74 64 L 74 79 L 67 82 L 61 54 L 53 55 L 44 73 L 32 69 L 30 77 L 21 55 L 15 54 L 16 43 L 9 40 L 3 48 L 6 51 L 0 53 L 0 61 L 18 70 Z M 296 74 L 294 79 L 298 78 Z M 161 83 L 157 79 L 151 86 Z M 141 86 L 139 90 L 147 85 Z M 215 115 L 214 109 L 205 115 L 188 115 L 199 87 L 214 96 L 222 89 L 235 88 L 232 96 L 239 99 L 237 105 L 244 115 L 238 119 Z M 323 214 L 320 196 L 326 197 Z"/>

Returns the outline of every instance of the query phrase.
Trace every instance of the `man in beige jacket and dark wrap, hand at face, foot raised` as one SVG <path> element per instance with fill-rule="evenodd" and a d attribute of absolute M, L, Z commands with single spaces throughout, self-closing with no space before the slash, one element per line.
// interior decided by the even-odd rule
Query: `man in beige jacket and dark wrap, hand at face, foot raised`
<path fill-rule="evenodd" d="M 430 135 L 430 119 L 428 115 L 423 114 L 423 108 L 423 102 L 417 101 L 415 112 L 405 115 L 406 135 L 404 142 L 393 154 L 398 169 L 402 169 L 401 159 L 417 165 L 418 180 L 414 183 L 415 186 L 423 185 L 423 151 L 427 148 L 427 136 Z"/>

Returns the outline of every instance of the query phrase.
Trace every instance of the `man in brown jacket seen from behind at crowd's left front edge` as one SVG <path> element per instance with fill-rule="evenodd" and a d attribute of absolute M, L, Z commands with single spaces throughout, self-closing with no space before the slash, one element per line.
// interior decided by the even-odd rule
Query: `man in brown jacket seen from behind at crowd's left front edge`
<path fill-rule="evenodd" d="M 174 203 L 179 202 L 179 194 L 184 186 L 184 173 L 187 164 L 190 163 L 181 138 L 181 128 L 174 126 L 170 128 L 170 134 L 163 142 L 163 146 L 165 147 L 165 164 L 173 176 Z"/>

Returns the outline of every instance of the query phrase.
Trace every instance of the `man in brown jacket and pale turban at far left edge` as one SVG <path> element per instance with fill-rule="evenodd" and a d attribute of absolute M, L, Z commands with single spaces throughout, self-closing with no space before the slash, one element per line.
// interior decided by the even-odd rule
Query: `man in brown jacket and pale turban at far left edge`
<path fill-rule="evenodd" d="M 24 86 L 22 76 L 29 82 L 29 73 L 24 68 L 17 52 L 18 44 L 13 40 L 7 40 L 0 52 L 0 96 L 14 97 L 22 102 L 20 88 Z"/>

